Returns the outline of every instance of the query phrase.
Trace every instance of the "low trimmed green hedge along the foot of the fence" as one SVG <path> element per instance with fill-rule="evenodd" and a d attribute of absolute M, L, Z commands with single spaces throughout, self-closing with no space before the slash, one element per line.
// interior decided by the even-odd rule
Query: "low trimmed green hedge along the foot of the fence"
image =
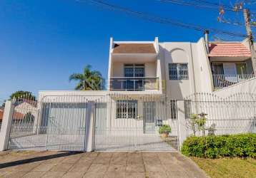
<path fill-rule="evenodd" d="M 207 158 L 256 158 L 256 134 L 187 137 L 182 145 L 182 154 Z"/>

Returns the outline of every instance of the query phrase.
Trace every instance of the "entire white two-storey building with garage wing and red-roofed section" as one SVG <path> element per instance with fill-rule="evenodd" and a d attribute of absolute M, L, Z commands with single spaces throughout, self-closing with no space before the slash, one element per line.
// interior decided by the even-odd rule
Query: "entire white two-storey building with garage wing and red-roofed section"
<path fill-rule="evenodd" d="M 209 128 L 216 135 L 252 132 L 253 71 L 247 39 L 209 42 L 207 33 L 195 43 L 111 38 L 107 90 L 39 91 L 33 105 L 15 105 L 15 112 L 33 117 L 13 115 L 11 127 L 20 132 L 11 130 L 9 149 L 176 151 L 191 135 L 192 113 L 207 114 L 205 135 Z M 230 98 L 240 92 L 249 98 L 241 95 L 244 105 Z"/>

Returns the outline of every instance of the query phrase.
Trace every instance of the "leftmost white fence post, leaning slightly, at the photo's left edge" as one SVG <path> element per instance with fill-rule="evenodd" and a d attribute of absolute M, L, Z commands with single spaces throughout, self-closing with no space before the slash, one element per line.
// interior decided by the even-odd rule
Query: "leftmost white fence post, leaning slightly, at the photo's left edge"
<path fill-rule="evenodd" d="M 10 100 L 6 101 L 4 107 L 4 116 L 1 124 L 0 131 L 0 151 L 7 150 L 10 132 L 11 132 L 11 120 L 14 112 L 14 105 Z"/>

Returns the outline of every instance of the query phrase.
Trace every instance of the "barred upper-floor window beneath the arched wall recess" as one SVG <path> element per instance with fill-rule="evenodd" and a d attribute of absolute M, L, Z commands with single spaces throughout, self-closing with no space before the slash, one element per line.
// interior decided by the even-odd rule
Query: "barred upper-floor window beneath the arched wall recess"
<path fill-rule="evenodd" d="M 169 80 L 188 80 L 187 63 L 169 63 Z"/>

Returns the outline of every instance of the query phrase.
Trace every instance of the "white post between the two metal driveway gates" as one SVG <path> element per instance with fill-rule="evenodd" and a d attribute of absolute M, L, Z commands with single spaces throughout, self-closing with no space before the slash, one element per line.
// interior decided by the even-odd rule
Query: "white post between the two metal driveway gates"
<path fill-rule="evenodd" d="M 94 120 L 95 120 L 95 107 L 94 101 L 87 102 L 87 120 L 85 127 L 85 147 L 84 151 L 92 152 L 94 145 Z"/>

